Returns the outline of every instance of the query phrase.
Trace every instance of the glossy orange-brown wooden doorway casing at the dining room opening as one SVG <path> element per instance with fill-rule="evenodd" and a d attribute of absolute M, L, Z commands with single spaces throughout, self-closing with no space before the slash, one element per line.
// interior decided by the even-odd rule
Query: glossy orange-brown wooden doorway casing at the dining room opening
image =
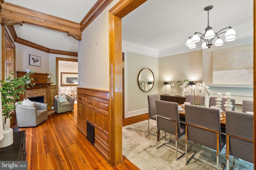
<path fill-rule="evenodd" d="M 120 0 L 109 11 L 110 163 L 122 162 L 122 17 L 146 0 Z"/>

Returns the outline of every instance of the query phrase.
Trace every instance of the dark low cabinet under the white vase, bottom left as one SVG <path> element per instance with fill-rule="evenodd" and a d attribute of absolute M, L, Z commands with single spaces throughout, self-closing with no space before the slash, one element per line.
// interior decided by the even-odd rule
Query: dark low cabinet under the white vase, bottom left
<path fill-rule="evenodd" d="M 13 144 L 0 148 L 0 160 L 23 161 L 26 160 L 26 133 L 18 131 L 13 133 Z"/>

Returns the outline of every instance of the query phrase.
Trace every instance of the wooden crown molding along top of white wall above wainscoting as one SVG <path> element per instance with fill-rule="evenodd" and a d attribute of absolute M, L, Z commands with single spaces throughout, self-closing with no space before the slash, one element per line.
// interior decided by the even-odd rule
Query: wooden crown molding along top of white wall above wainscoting
<path fill-rule="evenodd" d="M 80 22 L 81 31 L 84 29 L 112 2 L 113 0 L 98 0 L 92 9 Z"/>

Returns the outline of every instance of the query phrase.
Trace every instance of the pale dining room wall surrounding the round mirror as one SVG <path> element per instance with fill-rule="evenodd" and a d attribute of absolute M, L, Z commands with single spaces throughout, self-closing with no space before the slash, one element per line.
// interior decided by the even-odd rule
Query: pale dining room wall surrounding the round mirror
<path fill-rule="evenodd" d="M 158 58 L 127 52 L 127 111 L 128 117 L 148 113 L 148 95 L 158 94 Z M 154 74 L 154 86 L 148 91 L 140 90 L 137 83 L 138 73 L 149 68 Z"/>

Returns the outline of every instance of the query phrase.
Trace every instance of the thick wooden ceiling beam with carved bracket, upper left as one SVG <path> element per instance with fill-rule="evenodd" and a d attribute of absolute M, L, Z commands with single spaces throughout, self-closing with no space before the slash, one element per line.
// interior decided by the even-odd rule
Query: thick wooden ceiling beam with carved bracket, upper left
<path fill-rule="evenodd" d="M 76 40 L 81 40 L 82 38 L 79 23 L 30 10 L 28 8 L 10 4 L 8 2 L 4 2 L 2 4 L 0 16 L 9 20 L 22 21 L 23 23 L 30 25 L 65 32 L 68 33 L 69 36 L 73 35 L 72 37 L 74 37 Z"/>

